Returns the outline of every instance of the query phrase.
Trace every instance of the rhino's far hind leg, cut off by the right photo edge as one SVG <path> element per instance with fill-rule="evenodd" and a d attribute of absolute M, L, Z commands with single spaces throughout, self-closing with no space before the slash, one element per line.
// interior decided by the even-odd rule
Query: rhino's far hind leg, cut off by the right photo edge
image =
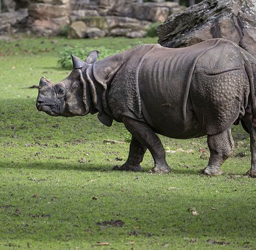
<path fill-rule="evenodd" d="M 247 132 L 250 134 L 250 149 L 251 149 L 251 168 L 247 171 L 247 175 L 256 178 L 256 128 L 251 123 L 251 115 L 246 114 L 243 117 L 246 124 Z"/>

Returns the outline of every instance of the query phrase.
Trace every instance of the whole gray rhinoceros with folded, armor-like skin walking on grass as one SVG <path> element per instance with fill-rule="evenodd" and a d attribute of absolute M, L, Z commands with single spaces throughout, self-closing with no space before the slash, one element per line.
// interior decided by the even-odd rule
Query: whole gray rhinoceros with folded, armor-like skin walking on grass
<path fill-rule="evenodd" d="M 72 56 L 73 70 L 53 85 L 42 77 L 36 107 L 53 116 L 98 113 L 111 126 L 123 122 L 132 135 L 125 164 L 117 170 L 141 170 L 148 149 L 154 173 L 168 173 L 163 145 L 155 133 L 170 138 L 207 135 L 210 149 L 203 173 L 221 174 L 232 149 L 232 124 L 241 120 L 250 134 L 251 168 L 256 177 L 256 60 L 236 44 L 210 39 L 187 48 L 139 45 L 96 61 Z"/>

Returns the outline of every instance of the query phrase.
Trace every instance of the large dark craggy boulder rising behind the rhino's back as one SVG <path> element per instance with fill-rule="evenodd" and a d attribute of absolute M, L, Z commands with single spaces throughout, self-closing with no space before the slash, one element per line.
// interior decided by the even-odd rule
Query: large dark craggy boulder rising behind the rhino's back
<path fill-rule="evenodd" d="M 205 0 L 158 26 L 159 43 L 186 47 L 211 38 L 232 40 L 256 57 L 256 2 Z"/>

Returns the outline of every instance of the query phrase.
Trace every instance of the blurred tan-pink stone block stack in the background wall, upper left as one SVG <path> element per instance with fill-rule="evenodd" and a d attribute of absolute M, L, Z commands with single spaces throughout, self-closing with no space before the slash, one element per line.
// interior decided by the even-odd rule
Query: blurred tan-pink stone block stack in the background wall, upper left
<path fill-rule="evenodd" d="M 28 14 L 32 32 L 56 35 L 69 24 L 69 0 L 32 0 Z"/>

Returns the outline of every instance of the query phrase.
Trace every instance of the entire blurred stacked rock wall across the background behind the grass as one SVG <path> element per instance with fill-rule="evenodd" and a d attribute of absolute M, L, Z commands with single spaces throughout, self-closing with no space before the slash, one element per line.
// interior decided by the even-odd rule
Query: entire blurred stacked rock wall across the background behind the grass
<path fill-rule="evenodd" d="M 169 15 L 185 8 L 164 0 L 146 3 L 134 0 L 1 1 L 8 12 L 0 13 L 0 34 L 16 32 L 22 24 L 33 34 L 57 35 L 61 28 L 70 24 L 70 38 L 105 35 L 143 37 L 151 23 L 163 22 Z M 27 9 L 21 11 L 21 7 Z"/>

